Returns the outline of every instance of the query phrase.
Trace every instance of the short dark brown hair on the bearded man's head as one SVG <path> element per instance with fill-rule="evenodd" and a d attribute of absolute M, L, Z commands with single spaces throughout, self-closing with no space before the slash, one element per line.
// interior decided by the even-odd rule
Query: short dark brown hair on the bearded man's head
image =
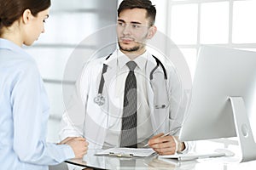
<path fill-rule="evenodd" d="M 123 0 L 118 8 L 118 16 L 125 9 L 144 8 L 147 10 L 147 18 L 150 20 L 150 26 L 154 25 L 156 9 L 150 0 Z"/>

